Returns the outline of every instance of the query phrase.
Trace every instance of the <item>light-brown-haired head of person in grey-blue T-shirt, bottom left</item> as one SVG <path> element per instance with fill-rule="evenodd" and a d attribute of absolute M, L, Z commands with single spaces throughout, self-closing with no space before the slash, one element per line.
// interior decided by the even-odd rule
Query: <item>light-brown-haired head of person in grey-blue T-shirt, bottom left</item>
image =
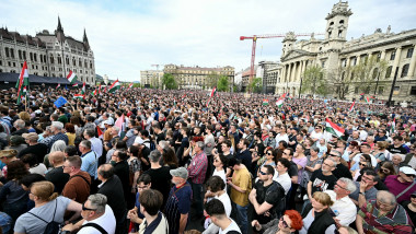
<path fill-rule="evenodd" d="M 55 186 L 50 182 L 36 182 L 31 186 L 28 198 L 35 203 L 48 202 L 58 197 L 58 192 L 54 192 Z"/>

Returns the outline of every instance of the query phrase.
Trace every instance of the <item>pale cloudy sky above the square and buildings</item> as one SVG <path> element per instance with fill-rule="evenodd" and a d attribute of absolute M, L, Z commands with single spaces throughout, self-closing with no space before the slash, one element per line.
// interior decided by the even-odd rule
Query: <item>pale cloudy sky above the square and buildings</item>
<path fill-rule="evenodd" d="M 66 35 L 82 40 L 85 28 L 95 72 L 111 80 L 139 81 L 152 65 L 250 67 L 259 34 L 324 33 L 338 0 L 0 0 L 0 23 L 9 31 L 53 33 L 58 15 Z M 415 0 L 353 0 L 347 39 L 362 34 L 416 28 Z M 323 38 L 323 36 L 315 36 Z M 308 39 L 309 37 L 298 37 Z M 278 61 L 281 39 L 257 40 L 256 62 Z"/>

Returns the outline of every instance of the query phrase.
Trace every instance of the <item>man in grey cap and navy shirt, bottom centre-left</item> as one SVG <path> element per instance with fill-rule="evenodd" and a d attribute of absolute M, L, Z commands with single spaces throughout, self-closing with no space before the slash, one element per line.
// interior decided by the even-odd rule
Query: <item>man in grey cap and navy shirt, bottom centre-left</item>
<path fill-rule="evenodd" d="M 192 188 L 188 178 L 188 171 L 185 167 L 177 167 L 170 171 L 172 184 L 169 192 L 164 213 L 169 223 L 169 233 L 183 233 L 185 231 L 192 201 Z"/>

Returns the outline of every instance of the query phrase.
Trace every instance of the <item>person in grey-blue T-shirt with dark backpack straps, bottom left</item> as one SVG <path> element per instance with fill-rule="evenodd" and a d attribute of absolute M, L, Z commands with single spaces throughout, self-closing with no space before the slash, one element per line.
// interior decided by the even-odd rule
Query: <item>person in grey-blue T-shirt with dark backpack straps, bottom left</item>
<path fill-rule="evenodd" d="M 50 182 L 36 182 L 31 186 L 28 198 L 35 202 L 35 207 L 19 217 L 14 225 L 15 234 L 44 233 L 49 222 L 63 223 L 67 210 L 76 212 L 79 217 L 82 204 L 66 197 L 58 197 L 54 190 L 54 184 Z"/>

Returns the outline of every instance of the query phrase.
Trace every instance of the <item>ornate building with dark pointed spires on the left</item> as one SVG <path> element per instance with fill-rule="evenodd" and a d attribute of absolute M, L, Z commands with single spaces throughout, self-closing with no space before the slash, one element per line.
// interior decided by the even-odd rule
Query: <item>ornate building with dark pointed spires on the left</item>
<path fill-rule="evenodd" d="M 0 72 L 20 73 L 24 60 L 31 74 L 63 78 L 72 70 L 78 81 L 95 84 L 94 54 L 85 30 L 82 42 L 66 36 L 59 17 L 54 34 L 44 30 L 33 37 L 0 28 Z"/>

